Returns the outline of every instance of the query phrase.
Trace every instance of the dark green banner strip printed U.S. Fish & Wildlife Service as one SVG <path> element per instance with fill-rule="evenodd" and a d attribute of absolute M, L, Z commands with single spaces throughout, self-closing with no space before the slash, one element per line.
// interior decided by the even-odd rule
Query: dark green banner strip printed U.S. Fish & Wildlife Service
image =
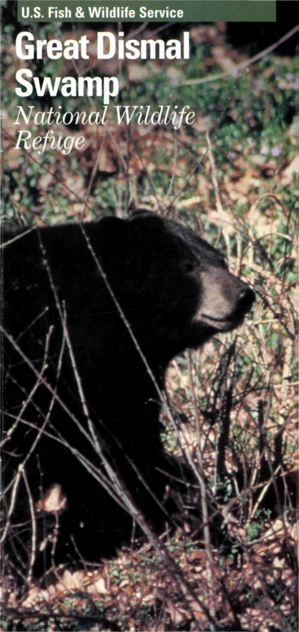
<path fill-rule="evenodd" d="M 276 0 L 18 0 L 27 22 L 274 22 Z"/>

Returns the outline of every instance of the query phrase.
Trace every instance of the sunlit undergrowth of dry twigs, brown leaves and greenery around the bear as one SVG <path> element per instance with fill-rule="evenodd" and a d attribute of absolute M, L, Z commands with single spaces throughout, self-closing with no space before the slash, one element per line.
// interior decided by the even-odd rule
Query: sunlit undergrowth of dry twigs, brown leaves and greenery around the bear
<path fill-rule="evenodd" d="M 58 37 L 54 25 L 26 28 L 40 39 Z M 83 32 L 76 25 L 63 37 Z M 4 631 L 298 628 L 298 59 L 269 55 L 238 79 L 185 85 L 238 55 L 217 27 L 193 25 L 191 39 L 189 61 L 148 61 L 143 78 L 132 63 L 123 64 L 119 104 L 188 103 L 193 126 L 177 133 L 167 126 L 126 128 L 112 117 L 109 130 L 86 126 L 84 151 L 46 150 L 40 158 L 15 149 L 16 106 L 24 103 L 14 92 L 13 28 L 4 25 L 3 221 L 52 224 L 151 208 L 188 222 L 256 294 L 254 312 L 237 332 L 179 356 L 168 370 L 176 428 L 164 411 L 165 447 L 191 459 L 207 499 L 205 525 L 192 520 L 197 489 L 188 497 L 191 507 L 181 501 L 185 517 L 176 533 L 161 535 L 188 586 L 143 544 L 88 572 L 61 569 L 56 586 L 31 586 L 26 597 L 6 578 Z M 61 60 L 42 64 L 45 75 L 61 74 Z M 31 104 L 43 109 L 39 100 Z M 60 105 L 102 107 L 101 100 L 52 99 L 55 110 Z M 71 133 L 61 128 L 52 129 Z M 39 133 L 37 126 L 28 129 Z"/>

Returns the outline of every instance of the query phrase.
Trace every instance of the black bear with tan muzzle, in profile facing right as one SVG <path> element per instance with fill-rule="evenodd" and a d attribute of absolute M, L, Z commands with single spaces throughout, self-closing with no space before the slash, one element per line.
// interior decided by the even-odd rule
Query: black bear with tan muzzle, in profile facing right
<path fill-rule="evenodd" d="M 4 232 L 3 539 L 26 579 L 130 534 L 103 457 L 161 526 L 166 368 L 237 327 L 254 293 L 191 229 L 149 212 Z"/>

